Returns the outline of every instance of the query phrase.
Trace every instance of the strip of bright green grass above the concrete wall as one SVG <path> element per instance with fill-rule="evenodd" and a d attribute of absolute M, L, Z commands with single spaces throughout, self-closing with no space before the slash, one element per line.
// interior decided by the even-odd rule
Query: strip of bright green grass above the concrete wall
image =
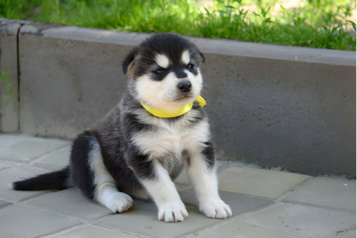
<path fill-rule="evenodd" d="M 285 9 L 276 0 L 1 0 L 0 17 L 116 31 L 174 31 L 185 36 L 289 46 L 356 50 L 351 0 L 301 0 Z M 247 6 L 256 5 L 256 10 Z M 277 10 L 278 9 L 278 10 Z"/>

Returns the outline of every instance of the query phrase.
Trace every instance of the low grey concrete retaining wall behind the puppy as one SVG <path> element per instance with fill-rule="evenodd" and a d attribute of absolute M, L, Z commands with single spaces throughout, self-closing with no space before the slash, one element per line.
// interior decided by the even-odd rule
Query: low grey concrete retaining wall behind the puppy
<path fill-rule="evenodd" d="M 121 61 L 148 36 L 0 21 L 0 69 L 16 78 L 19 62 L 19 100 L 1 91 L 0 127 L 16 131 L 6 124 L 14 122 L 41 137 L 73 139 L 106 114 L 126 90 Z M 6 29 L 19 29 L 18 39 Z M 356 51 L 192 41 L 206 56 L 203 96 L 219 157 L 356 177 Z M 6 107 L 16 101 L 19 110 Z"/>

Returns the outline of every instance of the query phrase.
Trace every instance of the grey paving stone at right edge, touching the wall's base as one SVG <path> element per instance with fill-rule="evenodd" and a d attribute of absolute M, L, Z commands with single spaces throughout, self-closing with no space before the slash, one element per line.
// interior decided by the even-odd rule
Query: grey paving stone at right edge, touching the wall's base
<path fill-rule="evenodd" d="M 356 180 L 316 177 L 301 184 L 284 202 L 356 211 Z"/>

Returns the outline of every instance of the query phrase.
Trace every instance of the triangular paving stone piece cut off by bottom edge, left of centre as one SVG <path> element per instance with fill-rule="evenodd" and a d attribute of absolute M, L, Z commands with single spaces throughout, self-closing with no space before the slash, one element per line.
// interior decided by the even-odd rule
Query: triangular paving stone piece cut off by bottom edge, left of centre
<path fill-rule="evenodd" d="M 96 227 L 93 225 L 85 225 L 84 227 L 79 227 L 73 229 L 70 232 L 61 233 L 54 235 L 53 237 L 58 238 L 75 238 L 75 237 L 86 237 L 86 238 L 98 238 L 98 237 L 111 237 L 111 238 L 124 238 L 124 237 L 135 237 L 130 234 L 123 234 L 121 232 L 113 231 L 103 227 Z"/>

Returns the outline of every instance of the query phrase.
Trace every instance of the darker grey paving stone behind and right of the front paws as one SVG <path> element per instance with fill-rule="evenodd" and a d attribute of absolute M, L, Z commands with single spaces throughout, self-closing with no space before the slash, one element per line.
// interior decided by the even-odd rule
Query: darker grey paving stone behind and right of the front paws
<path fill-rule="evenodd" d="M 221 199 L 231 207 L 233 216 L 238 216 L 246 212 L 252 212 L 256 209 L 266 207 L 274 203 L 271 199 L 263 199 L 246 194 L 224 191 L 220 191 L 219 194 Z M 187 189 L 186 191 L 180 192 L 180 196 L 183 203 L 192 207 L 198 207 L 198 200 L 196 199 L 196 194 L 193 189 Z"/>

